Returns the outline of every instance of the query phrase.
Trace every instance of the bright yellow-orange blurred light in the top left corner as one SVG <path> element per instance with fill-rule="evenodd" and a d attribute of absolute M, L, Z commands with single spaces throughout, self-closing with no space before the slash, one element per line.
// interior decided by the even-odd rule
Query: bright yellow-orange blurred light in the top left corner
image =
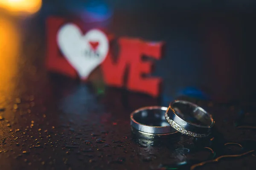
<path fill-rule="evenodd" d="M 0 0 L 0 8 L 5 8 L 13 13 L 34 14 L 40 10 L 42 0 Z"/>

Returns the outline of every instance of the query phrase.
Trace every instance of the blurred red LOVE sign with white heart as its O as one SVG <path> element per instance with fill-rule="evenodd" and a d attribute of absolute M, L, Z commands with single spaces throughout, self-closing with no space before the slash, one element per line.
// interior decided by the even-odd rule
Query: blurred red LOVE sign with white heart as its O
<path fill-rule="evenodd" d="M 86 80 L 100 66 L 107 85 L 159 96 L 162 79 L 150 76 L 154 63 L 152 59 L 144 61 L 142 57 L 160 59 L 164 43 L 119 37 L 119 54 L 114 60 L 109 50 L 109 37 L 100 29 L 83 30 L 81 23 L 49 17 L 47 69 Z M 124 81 L 126 70 L 128 75 Z"/>

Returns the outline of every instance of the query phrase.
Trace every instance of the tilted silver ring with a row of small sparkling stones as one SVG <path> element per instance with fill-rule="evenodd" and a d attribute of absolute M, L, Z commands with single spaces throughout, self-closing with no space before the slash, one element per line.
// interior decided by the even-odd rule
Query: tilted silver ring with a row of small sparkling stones
<path fill-rule="evenodd" d="M 165 117 L 177 131 L 193 137 L 208 136 L 215 124 L 211 114 L 184 100 L 171 102 Z"/>

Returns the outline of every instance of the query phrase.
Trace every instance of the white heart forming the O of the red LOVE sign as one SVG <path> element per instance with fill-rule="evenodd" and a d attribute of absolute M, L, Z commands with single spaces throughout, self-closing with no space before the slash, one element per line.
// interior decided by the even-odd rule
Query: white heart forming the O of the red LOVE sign
<path fill-rule="evenodd" d="M 78 26 L 68 23 L 59 29 L 57 42 L 64 57 L 76 69 L 81 79 L 86 79 L 108 54 L 108 38 L 98 29 L 91 29 L 83 35 Z M 98 42 L 95 50 L 90 42 Z"/>

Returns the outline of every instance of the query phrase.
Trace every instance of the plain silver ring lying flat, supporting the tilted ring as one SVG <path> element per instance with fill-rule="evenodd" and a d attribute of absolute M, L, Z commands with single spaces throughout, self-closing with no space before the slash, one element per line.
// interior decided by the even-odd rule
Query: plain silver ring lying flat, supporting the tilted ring
<path fill-rule="evenodd" d="M 154 139 L 176 133 L 165 119 L 166 110 L 166 107 L 148 106 L 132 112 L 130 119 L 133 132 Z"/>

